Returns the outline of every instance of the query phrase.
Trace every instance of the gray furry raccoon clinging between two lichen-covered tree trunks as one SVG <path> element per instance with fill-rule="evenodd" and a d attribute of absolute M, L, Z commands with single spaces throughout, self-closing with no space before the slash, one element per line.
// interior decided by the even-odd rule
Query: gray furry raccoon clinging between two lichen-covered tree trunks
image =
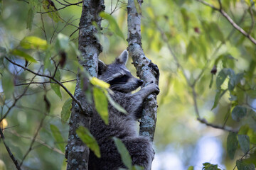
<path fill-rule="evenodd" d="M 159 87 L 151 83 L 137 93 L 132 91 L 142 86 L 143 81 L 132 76 L 125 67 L 128 60 L 128 52 L 124 50 L 116 60 L 109 65 L 99 61 L 98 78 L 110 84 L 111 94 L 115 102 L 119 103 L 127 114 L 120 113 L 109 105 L 109 125 L 100 118 L 96 112 L 92 116 L 90 132 L 100 146 L 101 158 L 97 158 L 90 152 L 89 169 L 108 170 L 125 168 L 119 152 L 114 145 L 112 137 L 118 137 L 127 147 L 132 164 L 150 169 L 154 158 L 154 150 L 148 138 L 138 136 L 135 130 L 136 120 L 142 116 L 142 102 L 151 93 L 159 93 Z"/>

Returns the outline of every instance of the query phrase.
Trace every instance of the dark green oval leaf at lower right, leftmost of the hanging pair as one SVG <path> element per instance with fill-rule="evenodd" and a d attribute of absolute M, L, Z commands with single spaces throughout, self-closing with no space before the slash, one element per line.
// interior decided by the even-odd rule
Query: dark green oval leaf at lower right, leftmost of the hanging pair
<path fill-rule="evenodd" d="M 228 157 L 234 159 L 235 150 L 238 148 L 238 139 L 235 132 L 229 132 L 227 140 Z"/>

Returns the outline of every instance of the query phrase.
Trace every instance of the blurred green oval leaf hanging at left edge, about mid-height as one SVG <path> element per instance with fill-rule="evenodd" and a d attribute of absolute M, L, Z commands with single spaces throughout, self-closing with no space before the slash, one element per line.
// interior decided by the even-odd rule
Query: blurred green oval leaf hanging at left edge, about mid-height
<path fill-rule="evenodd" d="M 6 98 L 11 98 L 14 93 L 14 79 L 12 74 L 4 71 L 1 77 L 1 84 Z"/>

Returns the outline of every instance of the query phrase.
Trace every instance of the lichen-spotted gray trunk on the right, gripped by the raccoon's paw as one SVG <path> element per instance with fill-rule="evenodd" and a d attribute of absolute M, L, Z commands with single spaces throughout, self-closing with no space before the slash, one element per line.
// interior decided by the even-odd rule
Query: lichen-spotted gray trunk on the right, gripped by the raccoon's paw
<path fill-rule="evenodd" d="M 139 6 L 142 6 L 142 0 L 138 0 L 138 3 Z M 137 69 L 137 76 L 144 81 L 144 86 L 152 81 L 158 84 L 159 69 L 156 64 L 153 64 L 151 60 L 144 55 L 142 49 L 141 15 L 135 7 L 134 0 L 128 0 L 127 12 L 128 51 Z M 156 94 L 149 95 L 144 102 L 142 119 L 139 125 L 139 135 L 150 137 L 152 142 L 156 128 L 157 107 Z"/>

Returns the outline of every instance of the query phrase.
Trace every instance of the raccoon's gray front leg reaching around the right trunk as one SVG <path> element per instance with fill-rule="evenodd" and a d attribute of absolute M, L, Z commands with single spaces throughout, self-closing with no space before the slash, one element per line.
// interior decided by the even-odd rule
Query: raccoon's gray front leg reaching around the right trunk
<path fill-rule="evenodd" d="M 135 120 L 138 120 L 142 117 L 142 103 L 144 101 L 144 98 L 154 92 L 156 94 L 159 94 L 159 86 L 151 83 L 140 89 L 137 93 L 130 96 L 128 113 L 130 113 L 130 115 L 132 115 Z"/>

